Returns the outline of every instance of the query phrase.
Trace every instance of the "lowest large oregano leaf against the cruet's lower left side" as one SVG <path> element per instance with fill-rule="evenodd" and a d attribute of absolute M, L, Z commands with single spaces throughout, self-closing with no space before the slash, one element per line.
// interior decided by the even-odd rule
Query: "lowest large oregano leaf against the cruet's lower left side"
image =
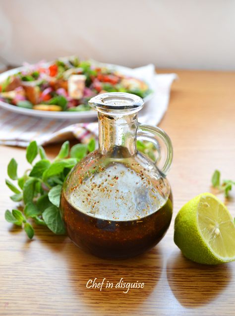
<path fill-rule="evenodd" d="M 59 208 L 55 205 L 49 207 L 43 212 L 43 219 L 48 228 L 55 234 L 63 235 L 65 233 L 64 223 L 62 221 Z"/>

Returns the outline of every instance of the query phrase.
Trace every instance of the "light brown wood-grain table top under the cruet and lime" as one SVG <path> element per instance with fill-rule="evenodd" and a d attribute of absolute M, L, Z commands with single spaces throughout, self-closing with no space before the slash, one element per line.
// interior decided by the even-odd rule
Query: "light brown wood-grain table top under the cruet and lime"
<path fill-rule="evenodd" d="M 179 79 L 160 124 L 175 150 L 169 174 L 174 217 L 189 199 L 212 191 L 214 169 L 235 179 L 235 73 L 175 72 Z M 58 148 L 47 152 L 53 157 Z M 25 151 L 0 147 L 0 315 L 235 315 L 235 262 L 203 266 L 186 260 L 173 241 L 174 218 L 157 247 L 126 261 L 97 259 L 46 228 L 37 228 L 29 241 L 3 218 L 14 205 L 4 185 L 12 157 L 23 171 Z M 235 216 L 234 198 L 225 202 Z M 86 288 L 94 278 L 145 286 L 127 294 Z"/>

